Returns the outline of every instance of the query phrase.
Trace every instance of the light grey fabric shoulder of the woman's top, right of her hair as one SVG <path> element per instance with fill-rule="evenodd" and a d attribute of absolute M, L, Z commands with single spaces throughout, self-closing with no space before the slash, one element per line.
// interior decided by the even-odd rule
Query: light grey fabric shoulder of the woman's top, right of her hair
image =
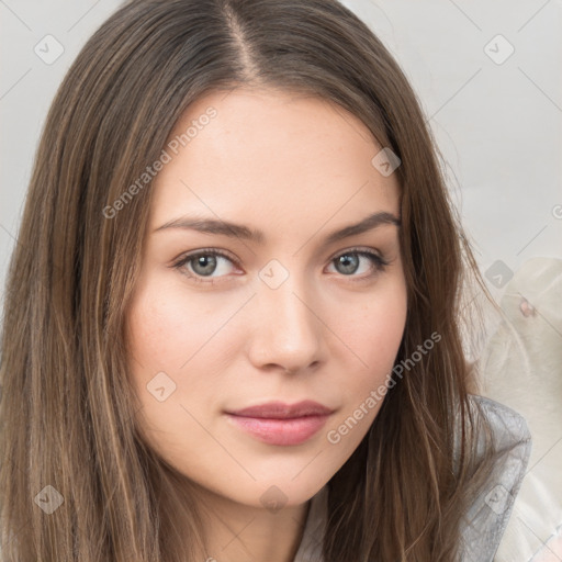
<path fill-rule="evenodd" d="M 462 528 L 464 562 L 492 561 L 512 515 L 531 452 L 531 435 L 525 418 L 493 400 L 470 395 L 470 406 L 487 428 L 494 447 L 492 470 L 467 512 Z M 484 456 L 485 435 L 477 435 L 476 456 Z"/>

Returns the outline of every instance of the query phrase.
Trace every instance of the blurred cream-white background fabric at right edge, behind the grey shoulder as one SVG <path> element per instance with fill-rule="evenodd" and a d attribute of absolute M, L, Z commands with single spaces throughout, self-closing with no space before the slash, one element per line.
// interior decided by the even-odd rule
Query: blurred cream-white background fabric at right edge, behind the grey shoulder
<path fill-rule="evenodd" d="M 521 414 L 532 435 L 527 475 L 495 562 L 562 561 L 561 304 L 562 259 L 547 257 L 513 272 L 501 314 L 482 299 L 479 394 Z"/>

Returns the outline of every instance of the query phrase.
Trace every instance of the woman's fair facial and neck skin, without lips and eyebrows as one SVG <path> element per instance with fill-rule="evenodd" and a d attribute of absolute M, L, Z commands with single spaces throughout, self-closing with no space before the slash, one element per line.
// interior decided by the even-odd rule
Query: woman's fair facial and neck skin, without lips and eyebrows
<path fill-rule="evenodd" d="M 149 446 L 198 485 L 209 514 L 206 557 L 290 562 L 310 499 L 360 443 L 380 401 L 337 445 L 327 434 L 385 382 L 406 322 L 396 225 L 325 241 L 375 212 L 398 217 L 398 183 L 371 164 L 381 147 L 366 125 L 315 97 L 213 92 L 189 106 L 170 138 L 210 106 L 216 116 L 154 182 L 127 313 L 131 370 L 143 405 L 137 424 Z M 184 215 L 245 224 L 262 231 L 265 241 L 156 231 Z M 350 255 L 355 247 L 387 265 L 380 269 L 367 256 Z M 216 257 L 214 270 L 196 259 L 173 267 L 202 248 L 223 250 L 231 260 Z M 341 255 L 350 255 L 347 269 L 335 260 Z M 271 260 L 282 268 L 270 269 Z M 283 270 L 289 277 L 272 289 L 263 273 L 279 281 Z M 147 390 L 159 372 L 169 378 L 161 379 L 166 387 L 176 384 L 161 402 Z M 335 412 L 297 446 L 263 443 L 224 414 L 306 398 Z M 260 499 L 273 485 L 284 501 L 277 513 Z"/>

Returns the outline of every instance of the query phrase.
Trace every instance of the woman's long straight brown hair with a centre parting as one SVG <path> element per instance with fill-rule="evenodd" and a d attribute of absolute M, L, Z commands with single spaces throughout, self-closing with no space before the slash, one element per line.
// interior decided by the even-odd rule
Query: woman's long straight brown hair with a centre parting
<path fill-rule="evenodd" d="M 469 412 L 459 327 L 464 272 L 479 274 L 414 91 L 383 44 L 335 0 L 135 0 L 70 67 L 41 138 L 5 291 L 2 560 L 199 555 L 195 502 L 186 479 L 139 438 L 127 375 L 124 318 L 150 183 L 115 216 L 103 210 L 158 159 L 190 103 L 244 86 L 329 100 L 400 157 L 408 313 L 396 363 L 431 334 L 441 337 L 396 379 L 330 480 L 324 559 L 453 560 L 469 494 L 484 474 L 474 463 L 473 434 L 483 428 Z M 42 502 L 58 508 L 47 513 Z"/>

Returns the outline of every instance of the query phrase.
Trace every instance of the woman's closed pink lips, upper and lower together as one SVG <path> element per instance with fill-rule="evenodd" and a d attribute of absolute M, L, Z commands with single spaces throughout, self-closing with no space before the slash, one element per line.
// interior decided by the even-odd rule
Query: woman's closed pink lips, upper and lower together
<path fill-rule="evenodd" d="M 316 435 L 333 413 L 331 408 L 317 402 L 304 401 L 293 405 L 270 402 L 225 414 L 235 427 L 259 441 L 295 446 Z"/>

